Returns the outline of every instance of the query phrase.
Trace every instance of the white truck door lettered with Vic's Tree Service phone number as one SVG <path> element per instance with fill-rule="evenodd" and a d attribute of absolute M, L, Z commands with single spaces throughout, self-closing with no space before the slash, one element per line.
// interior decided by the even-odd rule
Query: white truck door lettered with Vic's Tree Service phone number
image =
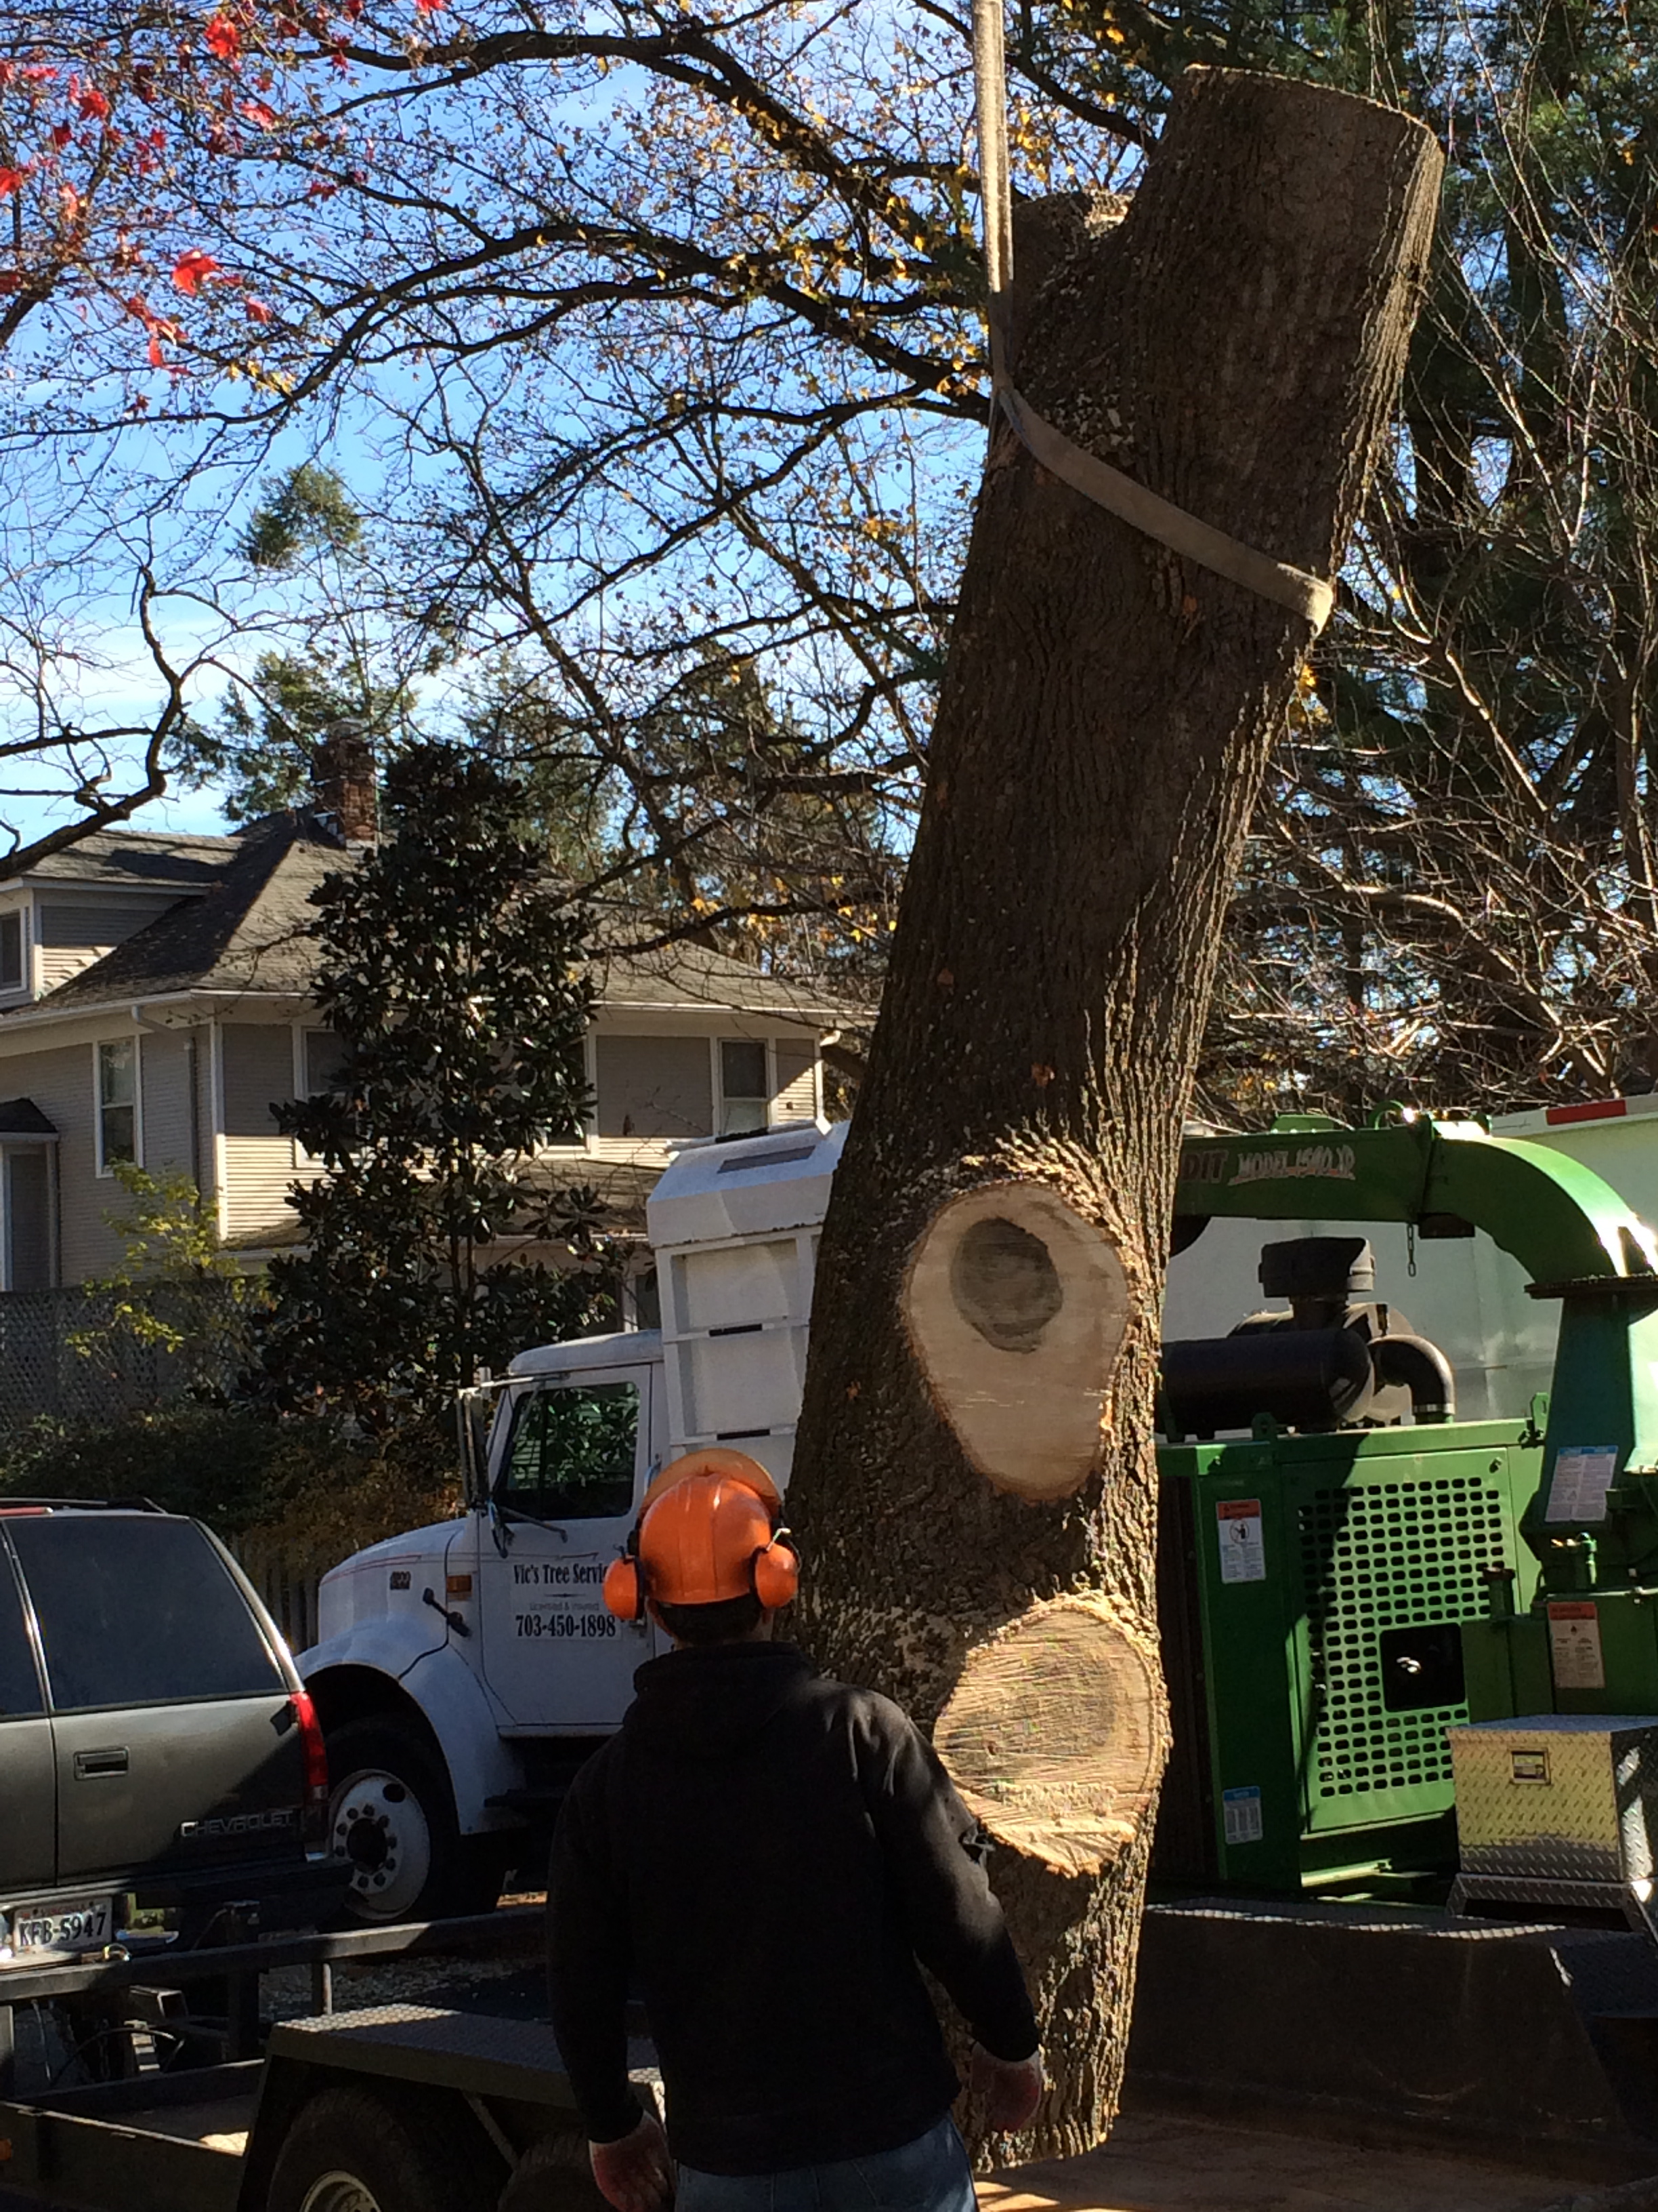
<path fill-rule="evenodd" d="M 500 1542 L 480 1544 L 484 1679 L 526 1732 L 617 1725 L 652 1652 L 604 1608 L 604 1571 L 650 1467 L 650 1369 L 588 1369 L 520 1391 L 495 1462 Z"/>

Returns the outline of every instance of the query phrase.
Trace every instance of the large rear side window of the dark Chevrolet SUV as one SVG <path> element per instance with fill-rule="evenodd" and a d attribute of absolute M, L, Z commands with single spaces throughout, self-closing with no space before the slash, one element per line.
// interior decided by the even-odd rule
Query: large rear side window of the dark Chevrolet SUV
<path fill-rule="evenodd" d="M 283 1690 L 283 1674 L 208 1537 L 146 1513 L 11 1524 L 57 1712 Z"/>

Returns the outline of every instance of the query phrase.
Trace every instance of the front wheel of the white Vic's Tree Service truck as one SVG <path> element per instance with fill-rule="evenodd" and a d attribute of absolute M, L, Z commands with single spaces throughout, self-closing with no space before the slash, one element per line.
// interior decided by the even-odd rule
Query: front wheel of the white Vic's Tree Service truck
<path fill-rule="evenodd" d="M 351 1867 L 343 1920 L 486 1913 L 502 1893 L 500 1838 L 462 1836 L 442 1761 L 398 1714 L 345 1721 L 327 1739 L 329 1847 Z"/>

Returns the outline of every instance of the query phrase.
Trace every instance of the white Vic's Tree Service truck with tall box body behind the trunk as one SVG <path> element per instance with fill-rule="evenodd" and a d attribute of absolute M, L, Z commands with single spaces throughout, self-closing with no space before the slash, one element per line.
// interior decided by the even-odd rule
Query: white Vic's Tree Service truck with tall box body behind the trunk
<path fill-rule="evenodd" d="M 1658 1219 L 1658 1097 L 1510 1115 Z M 844 1126 L 683 1148 L 648 1206 L 661 1329 L 520 1354 L 486 1391 L 464 1511 L 374 1544 L 321 1588 L 298 1659 L 329 1750 L 332 1838 L 365 1920 L 482 1911 L 511 1867 L 539 1874 L 570 1772 L 608 1736 L 654 1630 L 599 1586 L 652 1469 L 738 1444 L 787 1486 L 818 1228 Z M 1218 1336 L 1260 1303 L 1267 1234 L 1342 1223 L 1211 1221 L 1169 1265 L 1165 1334 Z M 1371 1237 L 1377 1296 L 1450 1356 L 1459 1411 L 1521 1413 L 1545 1389 L 1556 1307 L 1525 1296 L 1488 1237 Z"/>

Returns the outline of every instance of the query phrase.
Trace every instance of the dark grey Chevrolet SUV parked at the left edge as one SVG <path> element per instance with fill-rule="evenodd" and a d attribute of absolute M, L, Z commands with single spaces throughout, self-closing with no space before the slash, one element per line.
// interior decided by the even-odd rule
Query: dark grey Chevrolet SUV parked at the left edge
<path fill-rule="evenodd" d="M 0 2002 L 7 1966 L 113 1942 L 124 1896 L 314 1920 L 323 1734 L 237 1562 L 139 1504 L 0 1500 Z"/>

